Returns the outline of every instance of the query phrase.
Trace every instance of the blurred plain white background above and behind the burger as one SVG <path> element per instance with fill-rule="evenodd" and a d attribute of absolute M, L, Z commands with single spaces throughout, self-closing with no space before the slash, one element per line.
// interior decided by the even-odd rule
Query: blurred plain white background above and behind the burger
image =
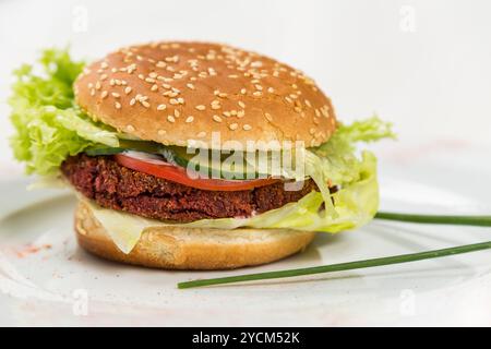
<path fill-rule="evenodd" d="M 378 112 L 403 144 L 487 142 L 489 13 L 486 0 L 0 0 L 0 161 L 13 166 L 4 104 L 12 69 L 50 46 L 70 44 L 76 58 L 95 59 L 154 39 L 273 56 L 313 76 L 339 119 Z"/>

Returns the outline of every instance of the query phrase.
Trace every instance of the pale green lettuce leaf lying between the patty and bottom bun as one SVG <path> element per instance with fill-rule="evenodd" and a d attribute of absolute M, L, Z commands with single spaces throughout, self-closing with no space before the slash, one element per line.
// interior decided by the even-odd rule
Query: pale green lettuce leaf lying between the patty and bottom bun
<path fill-rule="evenodd" d="M 250 218 L 202 219 L 189 224 L 172 224 L 146 219 L 124 212 L 103 208 L 85 200 L 96 219 L 105 227 L 118 248 L 130 253 L 142 233 L 157 227 L 188 227 L 237 229 L 285 228 L 301 231 L 339 232 L 363 226 L 379 208 L 376 159 L 370 152 L 363 152 L 360 161 L 359 180 L 333 194 L 336 202 L 336 218 L 322 209 L 324 198 L 319 192 L 311 192 L 299 202 L 287 204 Z"/>

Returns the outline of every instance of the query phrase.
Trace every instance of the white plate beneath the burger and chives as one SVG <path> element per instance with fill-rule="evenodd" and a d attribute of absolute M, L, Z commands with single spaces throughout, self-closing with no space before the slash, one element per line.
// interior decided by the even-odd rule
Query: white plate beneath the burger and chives
<path fill-rule="evenodd" d="M 381 158 L 382 206 L 490 213 L 486 148 L 411 147 Z M 459 167 L 453 161 L 459 158 Z M 404 160 L 402 160 L 404 159 Z M 482 166 L 487 168 L 482 168 Z M 96 258 L 72 233 L 74 198 L 0 183 L 1 325 L 490 325 L 491 253 L 247 285 L 178 281 L 347 262 L 491 240 L 490 229 L 374 221 L 319 234 L 303 254 L 235 272 L 164 272 Z"/>

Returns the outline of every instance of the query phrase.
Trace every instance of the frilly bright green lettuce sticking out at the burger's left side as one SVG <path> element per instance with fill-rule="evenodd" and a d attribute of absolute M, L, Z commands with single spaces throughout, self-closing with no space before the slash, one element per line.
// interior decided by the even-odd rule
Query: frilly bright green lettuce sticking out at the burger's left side
<path fill-rule="evenodd" d="M 83 67 L 68 50 L 49 49 L 38 65 L 15 71 L 9 99 L 15 128 L 11 146 L 27 173 L 52 174 L 67 157 L 94 144 L 118 146 L 117 133 L 93 122 L 74 104 L 72 85 Z"/>

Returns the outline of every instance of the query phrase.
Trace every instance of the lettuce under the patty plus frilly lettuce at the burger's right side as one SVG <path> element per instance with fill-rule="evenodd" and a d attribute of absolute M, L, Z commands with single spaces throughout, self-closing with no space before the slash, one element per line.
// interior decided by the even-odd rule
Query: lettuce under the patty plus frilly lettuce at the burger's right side
<path fill-rule="evenodd" d="M 189 224 L 165 222 L 87 204 L 108 230 L 115 243 L 130 253 L 142 233 L 155 227 L 188 228 L 285 228 L 336 233 L 369 222 L 379 209 L 376 158 L 368 151 L 356 154 L 358 142 L 395 137 L 391 124 L 373 117 L 349 125 L 340 124 L 334 136 L 318 148 L 306 151 L 306 174 L 321 192 L 311 192 L 299 202 L 249 218 L 202 219 Z M 338 191 L 332 194 L 330 185 Z"/>

